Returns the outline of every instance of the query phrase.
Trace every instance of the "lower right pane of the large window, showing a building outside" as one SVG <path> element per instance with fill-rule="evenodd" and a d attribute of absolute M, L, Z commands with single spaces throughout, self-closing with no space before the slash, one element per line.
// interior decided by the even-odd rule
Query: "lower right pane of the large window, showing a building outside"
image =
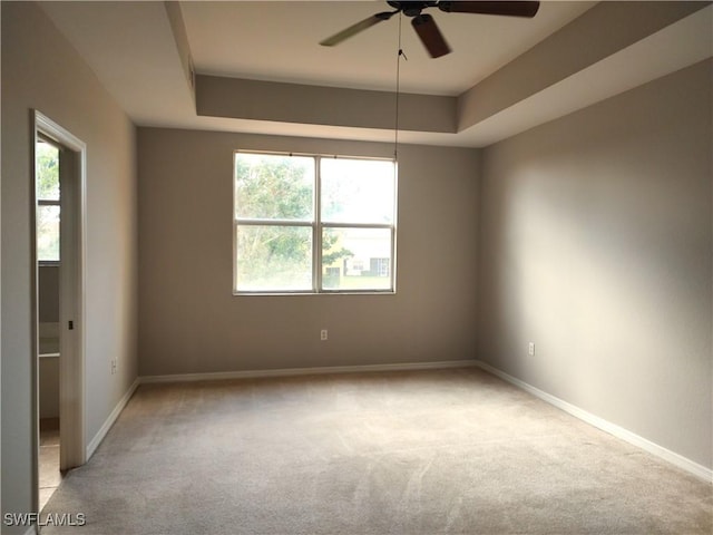
<path fill-rule="evenodd" d="M 324 228 L 324 290 L 391 290 L 389 228 Z"/>

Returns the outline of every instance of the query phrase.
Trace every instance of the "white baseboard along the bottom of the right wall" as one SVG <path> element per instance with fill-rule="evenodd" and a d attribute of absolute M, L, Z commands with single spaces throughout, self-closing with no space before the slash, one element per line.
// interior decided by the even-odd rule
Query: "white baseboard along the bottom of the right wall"
<path fill-rule="evenodd" d="M 651 440 L 644 437 L 641 437 L 635 432 L 629 431 L 628 429 L 619 427 L 616 424 L 612 424 L 611 421 L 599 418 L 598 416 L 595 416 L 590 412 L 587 412 L 586 410 L 580 409 L 575 405 L 572 405 L 563 399 L 559 399 L 550 393 L 547 393 L 538 388 L 535 388 L 531 385 L 525 381 L 521 381 L 520 379 L 517 379 L 516 377 L 512 377 L 506 373 L 505 371 L 498 370 L 497 368 L 494 368 L 492 366 L 486 362 L 481 362 L 478 360 L 478 361 L 475 361 L 475 363 L 477 367 L 482 368 L 484 370 L 489 371 L 494 376 L 497 376 L 500 379 L 511 385 L 515 385 L 516 387 L 521 388 L 522 390 L 531 393 L 533 396 L 541 399 L 543 401 L 546 401 L 549 405 L 553 405 L 558 409 L 561 409 L 565 412 L 568 412 L 572 416 L 583 421 L 586 421 L 587 424 L 598 429 L 602 429 L 603 431 L 606 431 L 609 435 L 615 436 L 616 438 L 625 440 L 633 446 L 636 446 L 645 451 L 648 451 L 649 454 L 653 454 L 656 457 L 660 457 L 661 459 L 664 459 L 671 463 L 672 465 L 675 465 L 678 468 L 686 470 L 687 473 L 699 477 L 700 479 L 703 479 L 706 483 L 713 484 L 712 469 L 706 468 L 703 465 L 699 465 L 697 463 L 688 459 L 687 457 L 676 454 L 675 451 L 671 451 L 670 449 L 664 448 L 663 446 L 652 442 Z"/>

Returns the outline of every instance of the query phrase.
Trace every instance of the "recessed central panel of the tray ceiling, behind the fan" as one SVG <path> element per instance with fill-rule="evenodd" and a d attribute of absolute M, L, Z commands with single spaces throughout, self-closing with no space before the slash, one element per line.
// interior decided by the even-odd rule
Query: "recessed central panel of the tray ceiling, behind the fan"
<path fill-rule="evenodd" d="M 453 52 L 431 59 L 401 23 L 400 69 L 407 93 L 457 96 L 515 59 L 596 2 L 545 2 L 534 19 L 446 13 L 431 9 Z M 399 18 L 340 46 L 319 41 L 374 12 L 381 1 L 184 2 L 196 70 L 203 74 L 359 89 L 393 90 Z"/>

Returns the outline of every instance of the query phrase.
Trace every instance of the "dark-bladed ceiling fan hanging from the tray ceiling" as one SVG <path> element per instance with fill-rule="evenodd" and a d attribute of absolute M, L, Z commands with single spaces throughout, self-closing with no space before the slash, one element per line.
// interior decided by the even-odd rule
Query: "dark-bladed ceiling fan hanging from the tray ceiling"
<path fill-rule="evenodd" d="M 383 11 L 372 14 L 368 19 L 356 22 L 344 30 L 334 33 L 332 37 L 320 41 L 324 47 L 334 47 L 340 42 L 355 36 L 356 33 L 378 25 L 381 21 L 389 20 L 397 13 L 403 13 L 411 17 L 411 25 L 418 33 L 421 42 L 429 51 L 432 58 L 440 58 L 450 54 L 450 47 L 443 35 L 438 29 L 436 20 L 428 13 L 422 11 L 428 8 L 438 8 L 447 13 L 476 13 L 476 14 L 504 14 L 508 17 L 527 17 L 533 18 L 539 9 L 539 2 L 530 1 L 490 1 L 490 2 L 443 2 L 443 1 L 426 1 L 426 2 L 387 2 L 394 11 Z"/>

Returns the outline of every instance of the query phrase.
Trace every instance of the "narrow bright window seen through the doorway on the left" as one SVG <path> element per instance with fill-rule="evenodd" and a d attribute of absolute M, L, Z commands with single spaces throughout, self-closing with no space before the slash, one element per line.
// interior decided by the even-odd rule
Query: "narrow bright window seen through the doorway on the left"
<path fill-rule="evenodd" d="M 59 148 L 42 139 L 35 149 L 37 260 L 59 262 Z"/>

